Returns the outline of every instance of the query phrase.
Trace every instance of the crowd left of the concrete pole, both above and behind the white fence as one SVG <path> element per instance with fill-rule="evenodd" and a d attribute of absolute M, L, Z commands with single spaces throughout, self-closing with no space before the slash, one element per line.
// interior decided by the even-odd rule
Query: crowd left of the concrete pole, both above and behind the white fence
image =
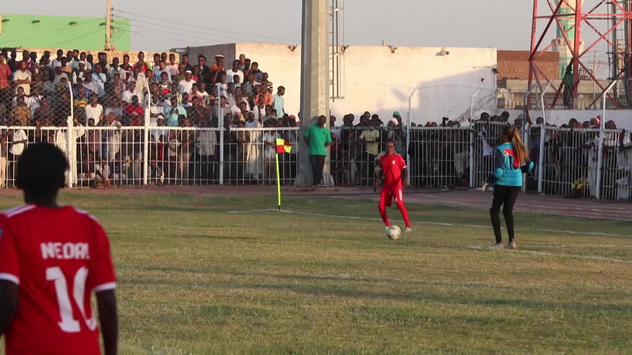
<path fill-rule="evenodd" d="M 122 61 L 118 57 L 108 61 L 105 52 L 94 58 L 78 50 L 64 55 L 60 49 L 56 56 L 44 52 L 38 58 L 35 52 L 23 51 L 18 59 L 15 49 L 3 49 L 0 51 L 0 126 L 20 128 L 3 129 L 0 135 L 3 143 L 0 155 L 4 157 L 0 160 L 4 173 L 0 174 L 3 176 L 0 186 L 13 171 L 8 165 L 15 167 L 19 156 L 16 147 L 46 140 L 64 148 L 63 135 L 42 132 L 51 126 L 65 127 L 70 116 L 74 126 L 80 128 L 75 135 L 78 176 L 99 183 L 109 184 L 109 176 L 138 179 L 138 160 L 141 159 L 138 150 L 143 137 L 135 130 L 112 132 L 93 127 L 143 126 L 145 109 L 150 111 L 150 126 L 210 128 L 222 124 L 227 128 L 226 158 L 238 155 L 245 151 L 238 145 L 245 141 L 250 145 L 262 143 L 263 135 L 246 137 L 231 132 L 230 128 L 296 126 L 296 116 L 285 112 L 285 88 L 279 86 L 274 93 L 269 79 L 268 73 L 244 54 L 225 68 L 221 55 L 214 57 L 214 64 L 209 66 L 203 55 L 190 63 L 184 54 L 176 63 L 174 54 L 154 54 L 153 62 L 148 63 L 145 54 L 139 52 L 131 64 L 128 55 L 123 56 Z M 219 117 L 218 107 L 224 113 L 222 117 Z M 152 173 L 160 171 L 162 180 L 171 179 L 171 182 L 195 178 L 212 180 L 215 172 L 201 175 L 198 172 L 197 176 L 191 176 L 188 160 L 206 157 L 208 164 L 202 165 L 213 171 L 211 161 L 217 160 L 218 150 L 214 142 L 219 141 L 219 137 L 203 131 L 191 134 L 152 129 Z M 21 136 L 25 136 L 23 141 L 16 140 Z M 250 150 L 251 155 L 267 153 L 265 148 Z M 251 160 L 255 165 L 264 159 L 252 157 Z M 121 168 L 121 163 L 119 169 L 115 169 L 116 162 L 129 163 L 126 168 Z M 246 169 L 250 170 L 255 170 L 258 177 L 263 169 Z M 227 176 L 232 175 L 236 179 L 240 174 L 229 169 Z"/>

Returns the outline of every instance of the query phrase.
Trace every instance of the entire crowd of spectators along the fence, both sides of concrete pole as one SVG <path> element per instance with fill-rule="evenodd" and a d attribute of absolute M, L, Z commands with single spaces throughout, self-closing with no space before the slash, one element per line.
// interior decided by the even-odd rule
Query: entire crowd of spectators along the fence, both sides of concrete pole
<path fill-rule="evenodd" d="M 52 58 L 52 59 L 51 59 Z M 59 50 L 52 57 L 45 52 L 0 51 L 0 125 L 34 129 L 4 130 L 0 135 L 0 175 L 4 185 L 11 162 L 25 143 L 46 140 L 66 149 L 65 138 L 49 126 L 66 126 L 74 114 L 78 131 L 76 161 L 78 176 L 91 183 L 111 180 L 138 182 L 142 176 L 143 135 L 140 129 L 99 130 L 93 127 L 126 128 L 143 126 L 145 110 L 150 111 L 150 176 L 155 183 L 216 183 L 219 160 L 224 162 L 225 183 L 274 183 L 276 138 L 291 142 L 293 150 L 280 155 L 279 174 L 291 184 L 298 172 L 298 114 L 286 112 L 285 88 L 276 87 L 268 73 L 241 54 L 224 64 L 218 55 L 212 64 L 205 56 L 195 63 L 185 54 L 155 54 L 145 61 L 139 52 L 113 57 L 101 52 L 93 58 L 80 51 Z M 132 64 L 133 63 L 133 64 Z M 147 90 L 149 88 L 149 90 Z M 222 117 L 219 109 L 224 112 Z M 525 117 L 510 120 L 483 113 L 469 128 L 447 117 L 441 123 L 404 126 L 399 112 L 384 122 L 377 114 L 364 112 L 356 121 L 347 114 L 342 122 L 331 116 L 331 172 L 336 184 L 372 186 L 376 162 L 387 141 L 410 161 L 411 184 L 427 188 L 470 186 L 470 171 L 477 185 L 493 169 L 495 140 L 506 124 L 524 126 Z M 538 117 L 534 124 L 542 124 Z M 531 122 L 530 122 L 531 123 Z M 597 157 L 600 117 L 571 119 L 559 128 L 548 123 L 544 134 L 545 193 L 594 196 L 597 190 Z M 219 157 L 219 132 L 204 128 L 224 127 L 224 156 Z M 417 128 L 423 126 L 423 128 Z M 433 129 L 436 127 L 436 129 Z M 238 128 L 258 128 L 241 130 Z M 616 129 L 612 121 L 605 128 Z M 410 132 L 408 132 L 410 130 Z M 540 131 L 529 130 L 528 148 L 539 164 Z M 410 135 L 409 135 L 410 133 Z M 410 136 L 410 141 L 406 141 Z M 604 195 L 629 199 L 632 183 L 632 144 L 629 133 L 608 132 L 604 136 L 602 184 Z M 470 150 L 476 159 L 470 160 Z M 470 169 L 470 162 L 475 164 Z M 118 167 L 117 167 L 118 166 Z M 9 171 L 9 172 L 8 172 Z M 538 172 L 527 179 L 528 190 L 537 190 Z"/>

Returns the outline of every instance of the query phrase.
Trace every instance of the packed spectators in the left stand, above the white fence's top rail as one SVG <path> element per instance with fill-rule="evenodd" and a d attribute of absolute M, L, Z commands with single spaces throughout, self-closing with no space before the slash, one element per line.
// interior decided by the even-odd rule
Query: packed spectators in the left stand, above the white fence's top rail
<path fill-rule="evenodd" d="M 219 101 L 234 123 L 252 113 L 260 121 L 283 119 L 289 126 L 291 115 L 284 111 L 285 88 L 277 87 L 274 92 L 269 79 L 268 73 L 244 54 L 225 68 L 221 55 L 209 66 L 203 55 L 190 63 L 187 54 L 179 62 L 175 54 L 154 54 L 150 63 L 145 61 L 144 52 L 134 59 L 125 55 L 108 61 L 106 52 L 94 58 L 78 50 L 64 55 L 59 49 L 55 56 L 44 52 L 38 59 L 35 52 L 23 51 L 18 59 L 15 49 L 3 49 L 0 124 L 63 126 L 72 106 L 75 114 L 85 114 L 85 120 L 80 121 L 83 125 L 92 118 L 101 126 L 104 117 L 113 112 L 115 121 L 123 126 L 137 126 L 143 124 L 141 110 L 151 107 L 155 111 L 153 124 L 162 116 L 167 126 L 178 126 L 183 116 L 191 116 L 194 126 L 208 119 L 217 127 L 215 107 Z M 156 102 L 150 102 L 147 84 Z M 50 108 L 37 112 L 42 100 L 47 100 Z"/>

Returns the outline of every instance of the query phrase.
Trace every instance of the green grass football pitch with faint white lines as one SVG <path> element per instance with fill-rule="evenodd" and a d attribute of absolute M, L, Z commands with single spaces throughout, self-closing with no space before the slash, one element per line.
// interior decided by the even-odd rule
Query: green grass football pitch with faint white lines
<path fill-rule="evenodd" d="M 632 353 L 630 223 L 517 214 L 520 250 L 487 251 L 485 210 L 409 205 L 394 242 L 363 200 L 61 200 L 111 238 L 121 354 Z"/>

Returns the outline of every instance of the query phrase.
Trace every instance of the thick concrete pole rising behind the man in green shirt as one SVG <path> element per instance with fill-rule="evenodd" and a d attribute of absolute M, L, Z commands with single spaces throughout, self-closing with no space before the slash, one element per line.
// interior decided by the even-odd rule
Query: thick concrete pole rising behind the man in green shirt
<path fill-rule="evenodd" d="M 309 147 L 303 135 L 320 115 L 327 117 L 329 129 L 329 1 L 303 0 L 303 33 L 301 40 L 301 126 L 300 161 L 294 181 L 297 186 L 312 185 Z M 317 181 L 316 184 L 321 183 Z M 322 184 L 331 186 L 334 179 L 329 169 L 329 148 Z"/>

